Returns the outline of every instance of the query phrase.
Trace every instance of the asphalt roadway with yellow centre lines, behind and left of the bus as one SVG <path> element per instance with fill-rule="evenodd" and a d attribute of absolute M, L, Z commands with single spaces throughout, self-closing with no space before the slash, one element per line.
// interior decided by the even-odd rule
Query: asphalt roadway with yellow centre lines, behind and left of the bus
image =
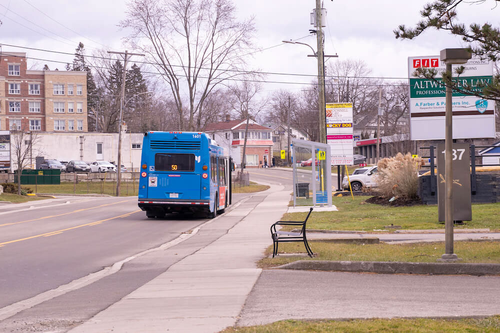
<path fill-rule="evenodd" d="M 237 200 L 242 195 L 235 194 Z M 0 309 L 177 238 L 206 219 L 148 219 L 136 197 L 0 213 Z"/>

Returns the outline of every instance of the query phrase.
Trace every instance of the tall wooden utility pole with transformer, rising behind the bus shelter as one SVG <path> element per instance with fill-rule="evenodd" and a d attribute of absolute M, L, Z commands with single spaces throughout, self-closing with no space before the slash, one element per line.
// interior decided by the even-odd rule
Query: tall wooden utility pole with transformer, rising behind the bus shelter
<path fill-rule="evenodd" d="M 326 119 L 324 114 L 324 57 L 321 0 L 316 0 L 316 38 L 317 38 L 317 78 L 319 84 L 319 142 L 326 143 Z"/>

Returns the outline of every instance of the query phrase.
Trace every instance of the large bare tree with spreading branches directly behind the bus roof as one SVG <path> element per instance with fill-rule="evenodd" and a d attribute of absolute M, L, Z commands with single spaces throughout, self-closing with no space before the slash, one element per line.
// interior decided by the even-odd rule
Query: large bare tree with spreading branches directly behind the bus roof
<path fill-rule="evenodd" d="M 163 75 L 180 129 L 199 130 L 207 96 L 241 74 L 231 70 L 253 47 L 253 18 L 237 21 L 231 0 L 130 0 L 127 7 L 120 22 L 132 30 L 126 41 Z"/>

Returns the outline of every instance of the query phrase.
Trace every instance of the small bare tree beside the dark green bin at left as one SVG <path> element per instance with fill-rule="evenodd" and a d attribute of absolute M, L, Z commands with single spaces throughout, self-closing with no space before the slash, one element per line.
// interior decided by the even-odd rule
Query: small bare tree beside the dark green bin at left
<path fill-rule="evenodd" d="M 21 195 L 21 174 L 30 165 L 32 156 L 40 153 L 38 147 L 39 137 L 37 133 L 26 133 L 12 125 L 10 130 L 10 151 L 14 161 L 15 174 L 17 176 L 17 194 Z M 33 151 L 34 149 L 34 151 Z"/>

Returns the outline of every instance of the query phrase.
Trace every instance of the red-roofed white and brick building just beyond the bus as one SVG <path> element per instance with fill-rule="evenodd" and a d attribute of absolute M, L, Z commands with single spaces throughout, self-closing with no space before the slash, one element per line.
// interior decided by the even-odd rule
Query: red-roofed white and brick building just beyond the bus
<path fill-rule="evenodd" d="M 205 126 L 205 132 L 221 147 L 228 149 L 237 166 L 241 165 L 246 120 L 229 120 Z M 272 161 L 272 129 L 250 120 L 246 139 L 246 166 L 260 167 Z"/>

